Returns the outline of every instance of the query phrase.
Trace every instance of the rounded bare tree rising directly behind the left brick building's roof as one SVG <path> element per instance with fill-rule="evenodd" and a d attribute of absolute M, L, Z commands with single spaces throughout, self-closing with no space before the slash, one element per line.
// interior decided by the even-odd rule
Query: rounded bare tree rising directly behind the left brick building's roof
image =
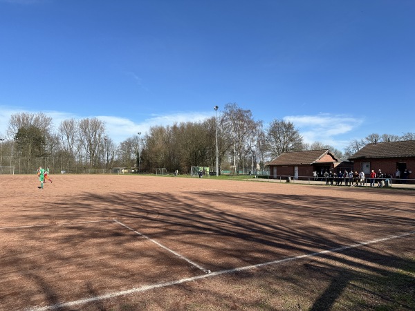
<path fill-rule="evenodd" d="M 293 122 L 273 120 L 268 126 L 266 141 L 273 158 L 288 151 L 300 151 L 303 148 L 303 138 L 295 129 Z"/>

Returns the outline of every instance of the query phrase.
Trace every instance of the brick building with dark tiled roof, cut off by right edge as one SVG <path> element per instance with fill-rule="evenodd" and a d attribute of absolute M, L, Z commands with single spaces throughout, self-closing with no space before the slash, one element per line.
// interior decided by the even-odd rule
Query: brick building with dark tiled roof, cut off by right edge
<path fill-rule="evenodd" d="M 369 176 L 370 171 L 388 173 L 395 177 L 396 168 L 401 173 L 407 169 L 409 178 L 414 179 L 415 173 L 415 140 L 401 142 L 378 142 L 367 144 L 349 158 L 353 161 L 353 169 L 364 171 Z"/>

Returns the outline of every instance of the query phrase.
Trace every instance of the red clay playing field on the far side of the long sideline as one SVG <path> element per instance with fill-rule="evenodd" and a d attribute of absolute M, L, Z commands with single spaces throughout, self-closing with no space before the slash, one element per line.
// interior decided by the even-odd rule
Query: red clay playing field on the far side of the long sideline
<path fill-rule="evenodd" d="M 407 190 L 104 175 L 56 175 L 39 189 L 35 175 L 7 177 L 1 310 L 104 300 L 401 234 L 414 241 Z"/>

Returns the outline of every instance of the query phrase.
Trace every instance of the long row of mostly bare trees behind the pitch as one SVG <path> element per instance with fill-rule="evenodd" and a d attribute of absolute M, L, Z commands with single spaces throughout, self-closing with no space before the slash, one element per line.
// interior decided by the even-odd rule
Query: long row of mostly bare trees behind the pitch
<path fill-rule="evenodd" d="M 56 169 L 73 173 L 114 167 L 148 173 L 163 167 L 170 172 L 189 173 L 191 167 L 216 167 L 216 158 L 222 170 L 253 172 L 263 170 L 268 160 L 288 151 L 330 149 L 341 159 L 370 142 L 415 139 L 415 133 L 371 134 L 353 140 L 342 153 L 321 142 L 304 143 L 292 122 L 275 119 L 264 127 L 249 109 L 235 103 L 226 104 L 219 116 L 201 122 L 152 126 L 143 137 L 133 135 L 119 144 L 107 135 L 105 123 L 97 118 L 64 120 L 55 129 L 52 118 L 44 113 L 11 115 L 7 134 L 8 139 L 1 141 L 0 166 L 8 166 L 9 162 L 17 166 L 19 159 L 19 167 L 24 168 L 19 169 L 20 173 L 30 173 L 34 165 L 50 159 Z"/>

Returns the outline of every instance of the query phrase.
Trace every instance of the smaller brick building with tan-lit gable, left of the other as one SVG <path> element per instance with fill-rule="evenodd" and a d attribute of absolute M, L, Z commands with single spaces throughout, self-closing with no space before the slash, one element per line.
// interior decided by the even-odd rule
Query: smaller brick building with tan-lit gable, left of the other
<path fill-rule="evenodd" d="M 339 165 L 352 167 L 350 162 L 341 162 L 329 149 L 292 151 L 282 153 L 268 163 L 273 178 L 281 176 L 299 177 L 323 176 L 325 171 L 333 171 Z"/>

